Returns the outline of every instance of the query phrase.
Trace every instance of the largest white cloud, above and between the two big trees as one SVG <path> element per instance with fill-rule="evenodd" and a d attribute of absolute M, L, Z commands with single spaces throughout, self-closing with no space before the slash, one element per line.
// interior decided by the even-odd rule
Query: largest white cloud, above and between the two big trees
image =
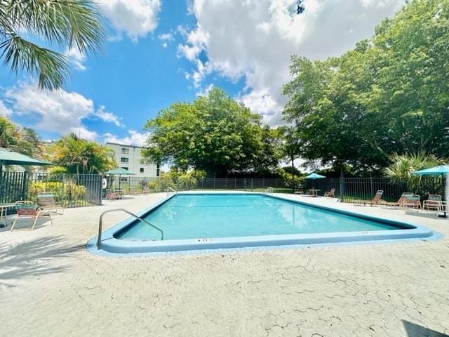
<path fill-rule="evenodd" d="M 300 15 L 296 2 L 194 0 L 189 8 L 196 27 L 178 28 L 185 37 L 178 53 L 194 65 L 186 77 L 196 87 L 211 73 L 232 81 L 244 77 L 245 93 L 239 99 L 263 114 L 265 122 L 280 124 L 290 55 L 315 60 L 341 55 L 371 37 L 375 25 L 404 0 L 304 0 L 306 10 Z"/>

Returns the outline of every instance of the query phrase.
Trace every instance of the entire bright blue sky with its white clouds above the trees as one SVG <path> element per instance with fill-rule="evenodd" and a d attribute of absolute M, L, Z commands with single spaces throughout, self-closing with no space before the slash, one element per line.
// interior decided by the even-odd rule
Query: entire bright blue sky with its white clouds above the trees
<path fill-rule="evenodd" d="M 72 76 L 42 92 L 28 75 L 2 72 L 0 114 L 31 126 L 44 140 L 76 132 L 99 142 L 142 145 L 147 119 L 176 101 L 224 88 L 282 124 L 293 53 L 340 55 L 369 38 L 402 0 L 103 0 L 107 39 L 98 55 L 65 52 Z"/>

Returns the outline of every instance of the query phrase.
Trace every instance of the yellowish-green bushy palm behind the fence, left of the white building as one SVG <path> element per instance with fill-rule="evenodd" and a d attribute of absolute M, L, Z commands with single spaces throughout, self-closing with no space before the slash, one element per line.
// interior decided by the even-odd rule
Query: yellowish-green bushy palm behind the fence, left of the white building
<path fill-rule="evenodd" d="M 53 162 L 67 173 L 103 173 L 114 169 L 114 151 L 71 134 L 53 145 Z"/>

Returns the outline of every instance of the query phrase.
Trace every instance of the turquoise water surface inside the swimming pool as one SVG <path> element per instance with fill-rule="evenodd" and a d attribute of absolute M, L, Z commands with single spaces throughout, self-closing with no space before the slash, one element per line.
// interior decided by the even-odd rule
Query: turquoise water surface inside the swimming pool
<path fill-rule="evenodd" d="M 163 230 L 164 240 L 404 229 L 262 194 L 178 194 L 144 218 Z M 114 236 L 160 239 L 154 228 L 141 222 Z"/>

